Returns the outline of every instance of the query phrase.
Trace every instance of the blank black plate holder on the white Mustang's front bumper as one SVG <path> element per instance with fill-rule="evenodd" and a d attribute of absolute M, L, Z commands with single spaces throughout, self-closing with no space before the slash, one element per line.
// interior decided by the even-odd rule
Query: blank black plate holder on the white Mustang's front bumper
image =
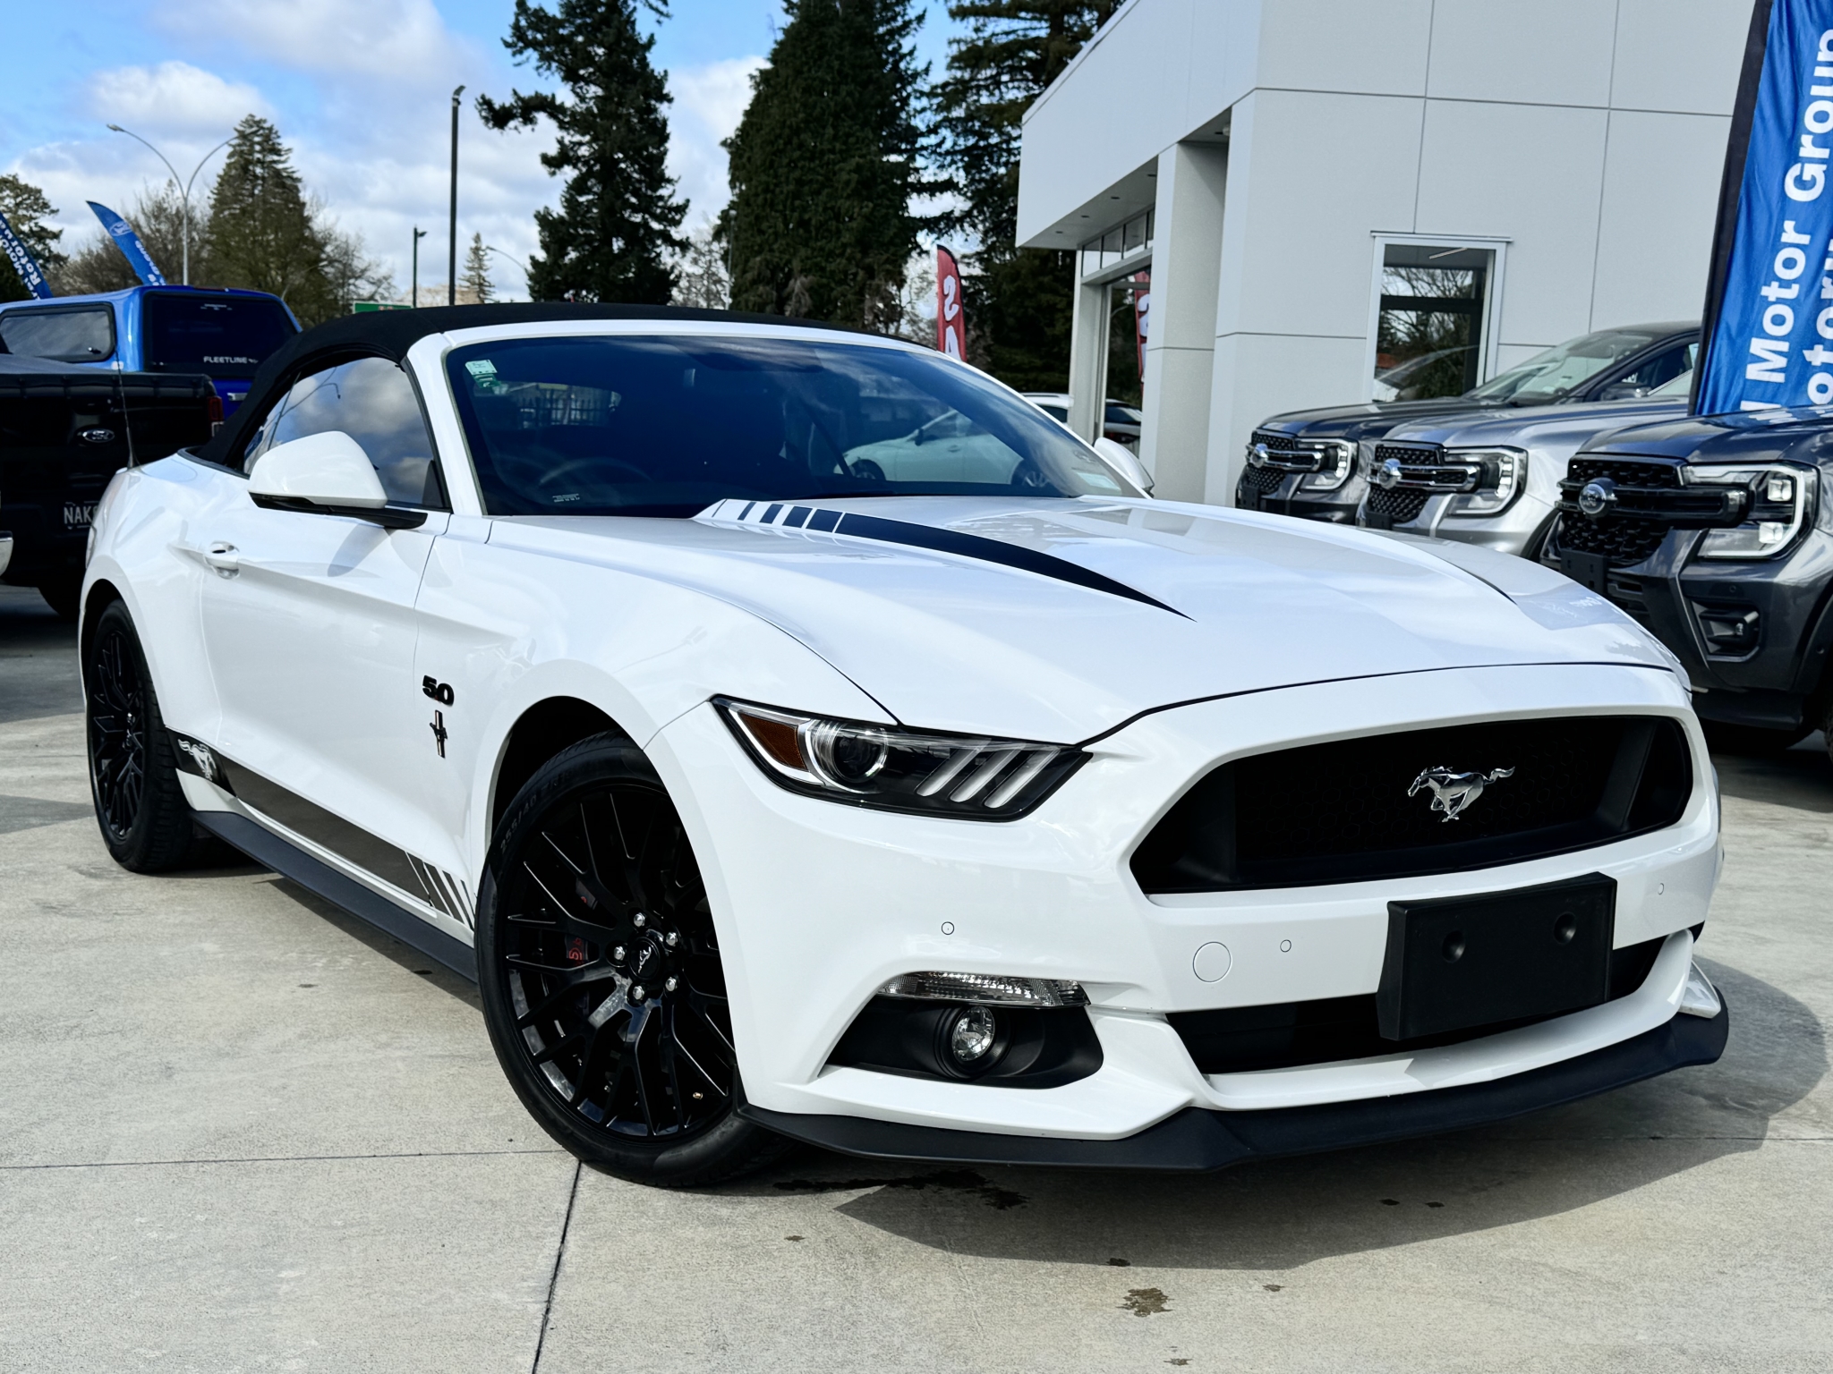
<path fill-rule="evenodd" d="M 1389 1041 L 1556 1017 L 1609 997 L 1617 879 L 1388 903 L 1377 1011 Z"/>

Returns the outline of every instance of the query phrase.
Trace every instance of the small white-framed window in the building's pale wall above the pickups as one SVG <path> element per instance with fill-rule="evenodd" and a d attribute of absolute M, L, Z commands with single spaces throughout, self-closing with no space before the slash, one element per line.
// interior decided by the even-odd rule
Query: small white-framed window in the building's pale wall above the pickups
<path fill-rule="evenodd" d="M 1463 396 L 1488 372 L 1496 247 L 1380 244 L 1371 399 Z"/>

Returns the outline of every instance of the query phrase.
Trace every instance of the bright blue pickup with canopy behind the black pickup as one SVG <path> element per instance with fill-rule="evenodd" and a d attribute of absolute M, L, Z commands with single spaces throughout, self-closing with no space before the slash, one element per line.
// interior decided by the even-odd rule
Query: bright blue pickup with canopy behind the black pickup
<path fill-rule="evenodd" d="M 203 372 L 225 416 L 247 396 L 262 359 L 295 333 L 293 311 L 266 291 L 130 286 L 0 304 L 7 354 L 110 372 Z"/>

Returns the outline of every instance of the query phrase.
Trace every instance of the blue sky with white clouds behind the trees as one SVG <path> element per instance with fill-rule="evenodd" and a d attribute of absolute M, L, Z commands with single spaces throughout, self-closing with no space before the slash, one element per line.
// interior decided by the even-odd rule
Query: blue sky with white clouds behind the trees
<path fill-rule="evenodd" d="M 940 68 L 948 16 L 940 0 L 927 9 L 920 49 Z M 537 161 L 548 136 L 495 134 L 471 112 L 478 92 L 535 84 L 500 42 L 511 13 L 513 0 L 33 0 L 29 22 L 11 26 L 31 55 L 15 49 L 0 82 L 0 169 L 44 187 L 70 247 L 97 231 L 86 200 L 126 213 L 165 180 L 158 159 L 108 123 L 141 134 L 189 176 L 253 110 L 280 126 L 308 191 L 363 234 L 405 293 L 414 225 L 431 231 L 422 282 L 445 280 L 451 90 L 464 82 L 460 238 L 482 233 L 526 258 L 530 216 L 557 194 Z M 744 112 L 748 73 L 777 24 L 777 0 L 673 0 L 673 18 L 653 26 L 675 95 L 669 163 L 691 202 L 689 225 L 724 203 L 719 141 Z M 220 154 L 200 187 L 218 165 Z M 499 289 L 521 295 L 521 271 L 497 262 Z M 176 264 L 161 266 L 176 275 Z"/>

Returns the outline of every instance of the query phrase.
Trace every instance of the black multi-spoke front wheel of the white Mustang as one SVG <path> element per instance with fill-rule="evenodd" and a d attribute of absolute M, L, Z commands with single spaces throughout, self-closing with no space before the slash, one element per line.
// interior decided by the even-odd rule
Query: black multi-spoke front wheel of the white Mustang
<path fill-rule="evenodd" d="M 706 883 L 662 780 L 627 740 L 581 740 L 515 795 L 484 868 L 477 971 L 502 1072 L 585 1163 L 695 1187 L 788 1149 L 735 1110 Z"/>

